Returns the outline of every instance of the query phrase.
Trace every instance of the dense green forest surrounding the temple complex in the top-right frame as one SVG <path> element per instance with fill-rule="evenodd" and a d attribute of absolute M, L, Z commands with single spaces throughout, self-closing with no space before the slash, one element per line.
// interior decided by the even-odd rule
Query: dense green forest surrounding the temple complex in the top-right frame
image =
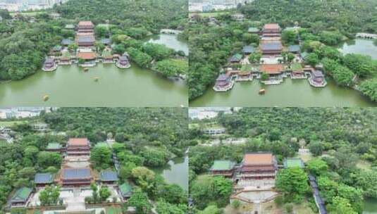
<path fill-rule="evenodd" d="M 249 27 L 279 23 L 283 28 L 302 27 L 298 32 L 285 30 L 282 39 L 285 44 L 298 44 L 301 40 L 302 51 L 309 53 L 304 58 L 306 63 L 323 63 L 326 74 L 342 87 L 353 87 L 353 77 L 357 75 L 361 79 L 359 90 L 376 101 L 376 61 L 357 54 L 342 56 L 337 47 L 345 39 L 353 39 L 357 32 L 377 31 L 376 6 L 376 1 L 360 0 L 257 0 L 232 12 L 245 14 L 247 19 L 242 22 L 233 20 L 232 13 L 219 13 L 217 23 L 194 16 L 189 39 L 190 100 L 214 84 L 229 56 L 240 53 L 244 45 L 258 44 L 259 39 L 247 34 Z"/>

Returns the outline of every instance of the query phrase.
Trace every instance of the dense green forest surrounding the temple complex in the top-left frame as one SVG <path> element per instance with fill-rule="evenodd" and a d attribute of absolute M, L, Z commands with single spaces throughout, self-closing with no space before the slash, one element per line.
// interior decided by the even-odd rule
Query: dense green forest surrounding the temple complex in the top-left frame
<path fill-rule="evenodd" d="M 51 18 L 52 12 L 60 13 L 62 18 Z M 17 18 L 12 18 L 4 10 L 0 11 L 0 15 L 3 18 L 0 21 L 0 80 L 21 80 L 41 68 L 47 53 L 56 44 L 61 44 L 61 39 L 73 39 L 75 32 L 66 30 L 66 24 L 76 24 L 80 20 L 92 20 L 95 25 L 109 24 L 109 30 L 97 27 L 96 35 L 99 38 L 111 36 L 117 44 L 113 52 L 123 54 L 126 49 L 135 48 L 125 45 L 126 39 L 139 42 L 158 33 L 161 28 L 183 30 L 187 23 L 187 3 L 184 0 L 68 1 L 36 13 L 34 17 L 20 13 Z M 167 48 L 156 45 L 154 49 L 166 53 Z M 140 43 L 137 43 L 137 50 L 129 51 L 132 52 L 132 61 L 142 67 L 149 68 L 152 60 L 161 60 L 153 54 L 149 55 L 150 52 L 145 51 Z M 168 51 L 170 54 L 164 58 L 174 58 L 175 54 L 184 56 L 180 51 Z M 181 67 L 168 61 L 164 67 L 160 65 L 156 70 L 169 76 L 172 75 L 171 70 L 176 69 Z M 187 73 L 187 68 L 183 69 L 186 70 L 178 70 L 173 75 Z"/>

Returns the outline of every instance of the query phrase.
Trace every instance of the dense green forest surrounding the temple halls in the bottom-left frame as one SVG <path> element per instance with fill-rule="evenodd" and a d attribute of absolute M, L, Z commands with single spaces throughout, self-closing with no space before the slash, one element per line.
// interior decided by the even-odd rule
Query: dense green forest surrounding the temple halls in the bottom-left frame
<path fill-rule="evenodd" d="M 47 122 L 51 132 L 41 134 L 29 123 L 21 123 L 12 127 L 16 132 L 13 144 L 0 141 L 1 208 L 14 189 L 34 185 L 36 172 L 58 172 L 62 158 L 59 153 L 45 151 L 49 143 L 65 145 L 69 137 L 87 137 L 96 170 L 113 168 L 114 152 L 120 161 L 120 182 L 135 184 L 135 194 L 124 208 L 135 206 L 138 213 L 149 213 L 153 207 L 150 199 L 161 213 L 187 211 L 187 191 L 167 184 L 150 170 L 184 155 L 189 143 L 187 108 L 59 108 L 34 119 Z M 109 137 L 116 140 L 111 148 L 95 146 Z"/>

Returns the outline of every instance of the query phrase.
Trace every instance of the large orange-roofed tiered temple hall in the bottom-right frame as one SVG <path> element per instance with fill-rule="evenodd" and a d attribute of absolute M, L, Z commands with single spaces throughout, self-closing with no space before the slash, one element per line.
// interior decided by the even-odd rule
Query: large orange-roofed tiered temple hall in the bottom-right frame
<path fill-rule="evenodd" d="M 274 180 L 278 163 L 272 153 L 247 153 L 240 168 L 237 168 L 236 181 Z"/>

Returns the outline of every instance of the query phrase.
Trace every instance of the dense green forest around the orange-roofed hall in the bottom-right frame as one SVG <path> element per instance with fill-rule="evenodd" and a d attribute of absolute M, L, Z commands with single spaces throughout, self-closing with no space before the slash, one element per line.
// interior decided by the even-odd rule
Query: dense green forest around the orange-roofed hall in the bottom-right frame
<path fill-rule="evenodd" d="M 275 202 L 301 203 L 307 197 L 313 206 L 307 179 L 303 178 L 310 172 L 317 177 L 329 213 L 361 213 L 364 199 L 377 199 L 376 119 L 373 108 L 242 108 L 238 113 L 221 114 L 214 120 L 226 128 L 228 137 L 245 137 L 247 141 L 200 146 L 209 137 L 192 127 L 192 144 L 199 145 L 190 149 L 190 194 L 199 209 L 214 204 L 222 208 L 228 204 L 228 190 L 228 194 L 212 194 L 200 185 L 204 179 L 201 174 L 208 172 L 214 160 L 240 163 L 244 153 L 272 151 L 281 164 L 304 147 L 313 154 L 307 169 L 280 171 L 276 188 L 282 197 Z M 218 192 L 231 189 L 225 181 L 205 180 L 217 183 L 214 187 Z M 289 189 L 296 184 L 303 188 Z"/>

